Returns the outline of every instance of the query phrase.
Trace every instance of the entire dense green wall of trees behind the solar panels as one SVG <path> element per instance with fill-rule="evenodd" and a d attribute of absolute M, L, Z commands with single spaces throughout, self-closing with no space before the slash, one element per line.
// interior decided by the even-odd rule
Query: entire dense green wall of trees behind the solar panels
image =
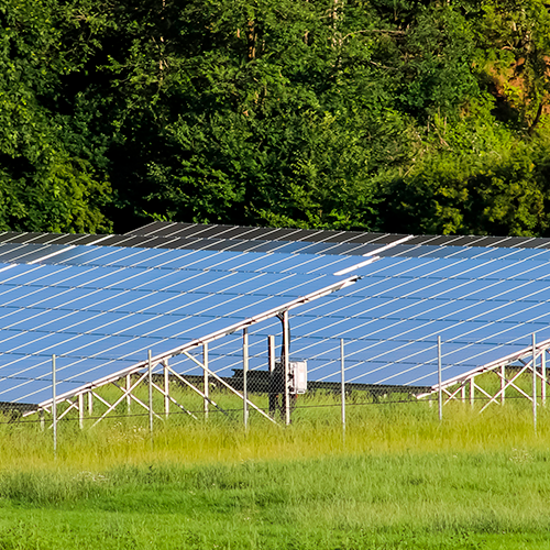
<path fill-rule="evenodd" d="M 2 0 L 0 230 L 550 234 L 542 0 Z"/>

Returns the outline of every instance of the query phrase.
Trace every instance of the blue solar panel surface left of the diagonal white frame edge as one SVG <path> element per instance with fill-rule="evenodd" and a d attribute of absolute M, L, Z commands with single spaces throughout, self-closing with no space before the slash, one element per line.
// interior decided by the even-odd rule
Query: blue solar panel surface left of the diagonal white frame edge
<path fill-rule="evenodd" d="M 19 264 L 0 282 L 0 399 L 48 397 L 50 358 L 59 393 L 163 353 L 339 280 L 355 260 L 101 246 L 9 245 Z M 52 250 L 57 252 L 48 257 Z M 8 252 L 8 251 L 7 251 Z M 0 265 L 0 268 L 4 265 Z M 14 374 L 18 376 L 13 377 Z M 22 378 L 29 380 L 22 380 Z"/>

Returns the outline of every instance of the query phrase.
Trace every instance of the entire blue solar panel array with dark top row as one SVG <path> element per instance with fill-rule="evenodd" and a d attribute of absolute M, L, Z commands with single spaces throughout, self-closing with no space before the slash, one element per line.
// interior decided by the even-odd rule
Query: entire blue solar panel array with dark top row
<path fill-rule="evenodd" d="M 292 359 L 310 380 L 427 386 L 550 338 L 550 240 L 274 230 L 154 222 L 128 235 L 0 234 L 0 402 L 58 394 L 341 280 L 293 310 Z M 397 244 L 396 244 L 397 243 Z M 364 254 L 381 258 L 369 265 Z M 251 366 L 266 337 L 250 330 Z M 241 336 L 211 344 L 210 367 L 242 366 Z M 196 373 L 188 360 L 179 372 Z"/>

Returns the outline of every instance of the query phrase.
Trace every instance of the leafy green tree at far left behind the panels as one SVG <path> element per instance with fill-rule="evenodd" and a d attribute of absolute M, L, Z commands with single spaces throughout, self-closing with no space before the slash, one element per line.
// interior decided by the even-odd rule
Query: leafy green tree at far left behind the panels
<path fill-rule="evenodd" d="M 0 7 L 0 229 L 97 232 L 110 186 L 56 109 L 64 56 L 53 1 Z"/>

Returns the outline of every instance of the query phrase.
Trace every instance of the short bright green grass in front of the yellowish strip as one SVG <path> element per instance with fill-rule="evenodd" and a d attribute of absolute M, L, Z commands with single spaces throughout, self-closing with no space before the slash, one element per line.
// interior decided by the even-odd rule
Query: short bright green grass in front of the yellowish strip
<path fill-rule="evenodd" d="M 550 548 L 550 453 L 4 472 L 0 548 Z"/>

